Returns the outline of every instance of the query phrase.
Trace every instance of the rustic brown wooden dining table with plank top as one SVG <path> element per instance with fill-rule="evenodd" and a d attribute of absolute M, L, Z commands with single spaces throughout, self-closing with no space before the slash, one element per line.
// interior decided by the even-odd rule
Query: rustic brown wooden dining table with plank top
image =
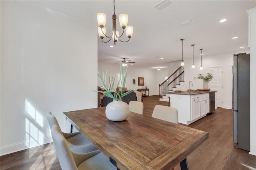
<path fill-rule="evenodd" d="M 167 170 L 177 164 L 187 170 L 186 157 L 209 137 L 202 130 L 132 112 L 125 121 L 109 121 L 105 108 L 63 114 L 120 170 Z"/>

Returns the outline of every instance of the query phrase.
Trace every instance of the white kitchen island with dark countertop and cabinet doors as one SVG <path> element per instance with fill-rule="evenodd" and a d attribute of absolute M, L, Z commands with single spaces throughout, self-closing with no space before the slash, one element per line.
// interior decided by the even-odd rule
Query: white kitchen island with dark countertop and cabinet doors
<path fill-rule="evenodd" d="M 171 107 L 178 109 L 179 123 L 189 125 L 210 112 L 210 95 L 216 91 L 174 91 L 167 93 Z"/>

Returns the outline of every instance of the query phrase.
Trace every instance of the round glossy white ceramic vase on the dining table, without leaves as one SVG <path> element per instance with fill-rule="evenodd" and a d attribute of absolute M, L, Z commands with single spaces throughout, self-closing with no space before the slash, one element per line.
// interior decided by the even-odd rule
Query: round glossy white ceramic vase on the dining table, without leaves
<path fill-rule="evenodd" d="M 106 106 L 106 117 L 110 121 L 124 121 L 130 114 L 129 106 L 121 100 L 114 100 Z"/>

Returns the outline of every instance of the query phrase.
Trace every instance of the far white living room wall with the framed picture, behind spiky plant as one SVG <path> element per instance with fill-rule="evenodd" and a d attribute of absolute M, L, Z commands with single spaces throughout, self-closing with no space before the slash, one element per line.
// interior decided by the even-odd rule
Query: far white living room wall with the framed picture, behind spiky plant
<path fill-rule="evenodd" d="M 103 75 L 103 72 L 106 73 L 106 71 L 108 71 L 107 77 L 110 76 L 110 73 L 112 73 L 112 76 L 114 76 L 115 73 L 120 73 L 120 65 L 98 63 L 98 70 L 101 75 Z M 147 88 L 150 90 L 150 95 L 159 95 L 159 84 L 163 82 L 164 75 L 166 74 L 167 74 L 167 69 L 161 69 L 160 71 L 156 69 L 138 69 L 138 68 L 134 68 L 132 65 L 128 65 L 126 87 L 127 89 L 132 89 L 134 87 L 137 87 L 138 89 L 142 89 L 144 88 L 144 86 L 147 85 Z M 138 77 L 144 77 L 144 86 L 138 86 Z M 108 79 L 109 78 L 107 78 L 107 80 Z M 132 83 L 132 79 L 136 80 L 135 85 Z M 100 79 L 98 79 L 98 85 L 102 85 L 100 83 Z M 115 83 L 115 87 L 116 87 L 116 83 Z"/>

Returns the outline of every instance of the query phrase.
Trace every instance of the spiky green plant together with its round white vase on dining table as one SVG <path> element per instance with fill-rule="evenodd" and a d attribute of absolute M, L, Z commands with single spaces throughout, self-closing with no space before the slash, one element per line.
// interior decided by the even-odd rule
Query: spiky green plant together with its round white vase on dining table
<path fill-rule="evenodd" d="M 131 89 L 130 91 L 124 91 L 124 86 L 125 86 L 126 77 L 127 77 L 127 69 L 128 67 L 126 67 L 126 71 L 125 73 L 123 73 L 122 63 L 120 63 L 120 80 L 117 82 L 115 90 L 112 90 L 112 88 L 114 87 L 116 74 L 114 76 L 113 81 L 107 87 L 106 77 L 107 77 L 108 71 L 106 71 L 106 74 L 103 73 L 103 76 L 101 76 L 100 72 L 98 71 L 98 75 L 102 83 L 102 86 L 99 86 L 99 87 L 104 89 L 105 91 L 96 91 L 96 92 L 102 93 L 107 97 L 110 97 L 113 99 L 112 102 L 108 103 L 105 111 L 106 117 L 110 121 L 124 121 L 128 118 L 130 113 L 128 104 L 122 101 L 122 97 L 132 93 L 136 89 L 136 87 L 134 89 Z M 112 77 L 111 74 L 110 74 L 110 77 Z M 118 91 L 119 84 L 121 84 L 121 87 L 122 87 L 120 92 Z"/>

